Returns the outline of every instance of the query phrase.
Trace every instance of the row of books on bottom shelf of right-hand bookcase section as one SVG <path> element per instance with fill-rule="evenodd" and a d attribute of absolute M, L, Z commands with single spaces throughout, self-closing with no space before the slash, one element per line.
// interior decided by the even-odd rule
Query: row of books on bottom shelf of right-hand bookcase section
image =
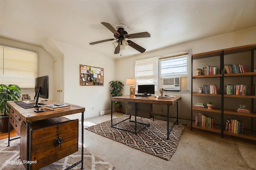
<path fill-rule="evenodd" d="M 226 131 L 230 133 L 238 133 L 243 135 L 244 134 L 244 123 L 237 119 L 228 118 L 226 120 Z"/>

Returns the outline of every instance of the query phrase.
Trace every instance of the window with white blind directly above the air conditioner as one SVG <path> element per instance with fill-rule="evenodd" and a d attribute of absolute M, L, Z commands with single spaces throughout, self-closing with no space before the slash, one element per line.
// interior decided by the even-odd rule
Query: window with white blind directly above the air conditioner
<path fill-rule="evenodd" d="M 188 51 L 159 57 L 160 77 L 186 76 Z M 185 75 L 184 75 L 185 74 Z"/>

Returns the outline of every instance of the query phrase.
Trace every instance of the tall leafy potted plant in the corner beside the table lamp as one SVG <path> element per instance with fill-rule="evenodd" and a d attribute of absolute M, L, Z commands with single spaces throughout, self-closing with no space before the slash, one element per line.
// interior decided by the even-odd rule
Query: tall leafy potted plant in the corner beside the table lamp
<path fill-rule="evenodd" d="M 112 90 L 110 90 L 110 94 L 112 97 L 116 97 L 116 96 L 123 96 L 121 93 L 121 90 L 123 89 L 124 84 L 122 84 L 122 82 L 120 81 L 110 81 L 110 87 L 112 88 Z M 122 102 L 118 102 L 118 101 L 114 101 L 114 106 L 117 112 L 121 112 L 122 113 Z"/>

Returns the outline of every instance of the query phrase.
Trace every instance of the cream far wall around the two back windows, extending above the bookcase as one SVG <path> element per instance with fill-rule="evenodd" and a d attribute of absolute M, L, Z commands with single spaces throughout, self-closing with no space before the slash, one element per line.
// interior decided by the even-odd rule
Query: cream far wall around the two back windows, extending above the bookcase
<path fill-rule="evenodd" d="M 186 36 L 186 35 L 184 35 Z M 161 55 L 167 55 L 192 49 L 192 54 L 203 53 L 207 51 L 214 51 L 219 49 L 226 49 L 231 47 L 238 47 L 242 45 L 249 45 L 256 43 L 256 27 L 245 29 L 242 31 L 236 31 L 233 33 L 227 33 L 224 35 L 218 35 L 215 37 L 209 37 L 189 43 L 176 45 L 173 47 L 167 47 L 156 51 L 148 51 L 142 54 L 134 55 L 128 58 L 121 58 L 116 61 L 116 79 L 121 82 L 125 82 L 126 78 L 134 77 L 134 62 L 139 59 L 147 59 L 151 57 L 157 57 Z M 190 70 L 188 70 L 190 72 Z M 190 81 L 190 80 L 188 80 Z M 130 86 L 125 85 L 123 89 L 123 95 L 129 95 Z M 190 90 L 190 89 L 189 89 Z M 191 117 L 191 94 L 190 92 L 168 92 L 175 96 L 181 96 L 181 106 L 179 117 L 189 118 Z M 160 94 L 156 94 L 160 95 Z M 189 123 L 189 121 L 188 121 Z"/>

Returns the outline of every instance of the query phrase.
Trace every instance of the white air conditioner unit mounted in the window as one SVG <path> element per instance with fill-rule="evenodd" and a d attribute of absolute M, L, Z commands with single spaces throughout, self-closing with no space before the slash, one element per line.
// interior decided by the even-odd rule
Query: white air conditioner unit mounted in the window
<path fill-rule="evenodd" d="M 165 90 L 180 91 L 180 77 L 163 78 L 162 82 Z"/>

